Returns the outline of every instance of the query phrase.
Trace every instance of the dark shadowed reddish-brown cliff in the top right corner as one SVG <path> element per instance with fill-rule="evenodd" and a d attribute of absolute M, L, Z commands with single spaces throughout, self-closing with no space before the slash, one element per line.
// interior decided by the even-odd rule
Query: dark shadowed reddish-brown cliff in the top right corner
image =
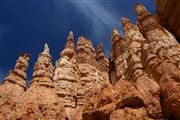
<path fill-rule="evenodd" d="M 160 24 L 168 29 L 180 41 L 180 1 L 156 0 L 156 18 Z"/>

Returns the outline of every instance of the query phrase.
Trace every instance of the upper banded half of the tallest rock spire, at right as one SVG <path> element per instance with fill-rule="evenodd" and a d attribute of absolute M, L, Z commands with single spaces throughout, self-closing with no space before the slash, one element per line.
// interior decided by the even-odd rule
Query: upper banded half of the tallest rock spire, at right
<path fill-rule="evenodd" d="M 135 9 L 139 27 L 149 41 L 150 48 L 155 53 L 163 48 L 166 52 L 165 58 L 180 68 L 180 45 L 175 37 L 163 28 L 143 5 L 137 4 Z"/>

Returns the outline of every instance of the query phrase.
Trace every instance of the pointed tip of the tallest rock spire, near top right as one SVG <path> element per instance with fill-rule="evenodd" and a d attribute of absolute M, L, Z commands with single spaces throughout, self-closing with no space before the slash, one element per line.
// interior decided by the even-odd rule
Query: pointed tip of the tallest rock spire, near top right
<path fill-rule="evenodd" d="M 151 15 L 150 12 L 146 9 L 146 7 L 139 3 L 135 5 L 135 11 L 139 21 Z"/>

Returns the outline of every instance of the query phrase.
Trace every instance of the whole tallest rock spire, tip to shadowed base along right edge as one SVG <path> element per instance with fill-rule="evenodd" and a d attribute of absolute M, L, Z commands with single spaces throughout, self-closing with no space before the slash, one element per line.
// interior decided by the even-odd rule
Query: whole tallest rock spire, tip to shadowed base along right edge
<path fill-rule="evenodd" d="M 144 6 L 136 5 L 136 13 L 139 25 L 149 42 L 149 44 L 143 44 L 145 52 L 143 53 L 142 63 L 144 64 L 144 69 L 146 73 L 159 83 L 165 105 L 169 106 L 171 113 L 179 118 L 177 113 L 179 113 L 178 101 L 180 98 L 178 91 L 180 83 L 176 80 L 179 74 L 179 44 L 173 35 L 162 28 L 155 18 L 149 14 Z M 150 23 L 148 24 L 145 21 Z M 171 71 L 175 69 L 177 72 Z M 169 85 L 167 87 L 167 83 L 171 83 L 174 86 Z"/>

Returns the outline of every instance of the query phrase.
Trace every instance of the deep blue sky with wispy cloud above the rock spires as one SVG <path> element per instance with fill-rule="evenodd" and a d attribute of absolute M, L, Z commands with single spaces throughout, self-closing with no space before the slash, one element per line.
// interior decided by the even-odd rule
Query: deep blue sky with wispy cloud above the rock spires
<path fill-rule="evenodd" d="M 83 35 L 94 45 L 102 42 L 108 56 L 111 29 L 122 31 L 120 18 L 136 23 L 135 3 L 155 11 L 154 0 L 0 0 L 0 81 L 13 68 L 20 50 L 31 54 L 29 80 L 44 43 L 53 61 L 59 59 L 70 30 L 75 41 Z"/>

